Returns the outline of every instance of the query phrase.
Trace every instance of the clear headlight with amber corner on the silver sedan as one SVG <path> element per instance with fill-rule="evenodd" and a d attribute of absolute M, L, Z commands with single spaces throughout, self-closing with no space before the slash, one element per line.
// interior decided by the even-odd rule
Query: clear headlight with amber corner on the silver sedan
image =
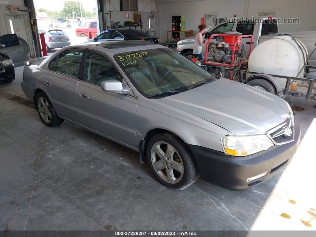
<path fill-rule="evenodd" d="M 268 150 L 274 144 L 266 134 L 250 136 L 224 136 L 224 152 L 232 156 L 247 156 Z"/>

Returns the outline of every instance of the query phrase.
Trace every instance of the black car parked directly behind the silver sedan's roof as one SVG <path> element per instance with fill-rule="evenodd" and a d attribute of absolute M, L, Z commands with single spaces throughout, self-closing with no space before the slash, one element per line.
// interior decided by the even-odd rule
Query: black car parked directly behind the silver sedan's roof
<path fill-rule="evenodd" d="M 156 44 L 159 43 L 158 37 L 151 36 L 140 30 L 129 28 L 106 30 L 98 34 L 94 39 L 88 40 L 87 42 L 108 40 L 145 40 L 154 42 Z"/>

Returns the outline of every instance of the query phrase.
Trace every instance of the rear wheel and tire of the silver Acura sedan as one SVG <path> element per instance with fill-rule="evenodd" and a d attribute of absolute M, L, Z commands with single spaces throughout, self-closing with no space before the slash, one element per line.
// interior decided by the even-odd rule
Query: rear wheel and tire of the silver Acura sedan
<path fill-rule="evenodd" d="M 64 122 L 57 116 L 57 113 L 44 92 L 39 92 L 35 98 L 36 109 L 40 119 L 47 127 L 54 127 Z"/>

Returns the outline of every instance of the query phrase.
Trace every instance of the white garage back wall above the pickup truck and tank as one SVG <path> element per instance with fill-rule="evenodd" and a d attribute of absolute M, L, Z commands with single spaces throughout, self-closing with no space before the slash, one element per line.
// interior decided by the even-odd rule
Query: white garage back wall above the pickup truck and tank
<path fill-rule="evenodd" d="M 139 0 L 141 1 L 141 0 Z M 171 30 L 171 16 L 185 16 L 185 29 L 194 30 L 204 14 L 217 14 L 217 18 L 258 17 L 259 12 L 273 12 L 275 17 L 299 18 L 300 24 L 281 24 L 280 32 L 315 31 L 316 0 L 156 0 L 158 24 L 157 31 L 161 42 Z"/>

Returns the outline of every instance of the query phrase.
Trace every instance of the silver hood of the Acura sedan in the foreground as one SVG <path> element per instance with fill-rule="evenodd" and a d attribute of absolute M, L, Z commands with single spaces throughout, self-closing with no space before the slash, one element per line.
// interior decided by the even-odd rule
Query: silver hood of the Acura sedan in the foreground
<path fill-rule="evenodd" d="M 289 115 L 280 97 L 225 78 L 158 100 L 235 135 L 264 134 Z"/>

